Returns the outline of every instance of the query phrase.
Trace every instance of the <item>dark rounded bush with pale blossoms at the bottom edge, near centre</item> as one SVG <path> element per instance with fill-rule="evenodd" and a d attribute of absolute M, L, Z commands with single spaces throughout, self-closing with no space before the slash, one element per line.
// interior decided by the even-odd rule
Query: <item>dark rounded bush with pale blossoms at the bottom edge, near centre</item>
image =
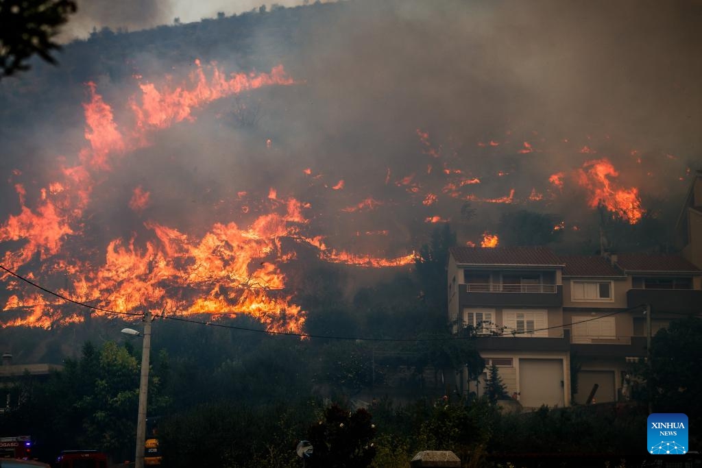
<path fill-rule="evenodd" d="M 309 466 L 369 467 L 376 456 L 375 434 L 376 427 L 367 410 L 350 411 L 334 404 L 326 408 L 323 419 L 307 431 L 307 439 L 314 450 Z"/>

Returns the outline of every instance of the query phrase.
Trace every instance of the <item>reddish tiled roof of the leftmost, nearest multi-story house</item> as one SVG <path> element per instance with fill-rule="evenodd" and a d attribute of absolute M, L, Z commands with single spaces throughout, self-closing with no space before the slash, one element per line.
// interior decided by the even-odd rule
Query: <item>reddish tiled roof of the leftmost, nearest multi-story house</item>
<path fill-rule="evenodd" d="M 531 265 L 562 267 L 563 262 L 545 247 L 452 247 L 458 265 Z"/>

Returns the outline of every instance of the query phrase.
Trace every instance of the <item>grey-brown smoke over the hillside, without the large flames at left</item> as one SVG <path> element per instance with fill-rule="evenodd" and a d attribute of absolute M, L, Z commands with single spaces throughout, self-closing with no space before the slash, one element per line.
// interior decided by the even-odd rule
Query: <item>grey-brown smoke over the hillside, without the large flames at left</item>
<path fill-rule="evenodd" d="M 143 26 L 173 15 L 111 8 L 82 14 Z M 43 269 L 81 258 L 97 271 L 115 239 L 144 252 L 153 223 L 194 239 L 217 222 L 246 229 L 291 198 L 305 222 L 289 237 L 358 255 L 408 255 L 428 221 L 479 244 L 517 209 L 555 213 L 567 249 L 587 250 L 600 219 L 581 183 L 588 161 L 611 161 L 611 187 L 638 189 L 647 213 L 681 208 L 702 161 L 701 15 L 700 1 L 347 1 L 98 34 L 69 44 L 58 69 L 0 83 L 3 219 L 20 212 L 18 185 L 32 209 L 80 164 L 84 83 L 127 135 L 138 83 L 175 88 L 199 59 L 208 76 L 282 64 L 296 83 L 198 107 L 109 169 L 88 168 L 90 201 Z M 27 242 L 3 240 L 6 259 Z"/>

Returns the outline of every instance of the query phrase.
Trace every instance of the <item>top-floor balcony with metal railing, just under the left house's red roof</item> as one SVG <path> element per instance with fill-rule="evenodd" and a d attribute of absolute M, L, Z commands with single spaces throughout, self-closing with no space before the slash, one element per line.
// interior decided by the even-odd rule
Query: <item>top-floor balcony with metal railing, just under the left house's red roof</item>
<path fill-rule="evenodd" d="M 563 286 L 556 284 L 462 284 L 458 290 L 461 307 L 560 307 Z"/>

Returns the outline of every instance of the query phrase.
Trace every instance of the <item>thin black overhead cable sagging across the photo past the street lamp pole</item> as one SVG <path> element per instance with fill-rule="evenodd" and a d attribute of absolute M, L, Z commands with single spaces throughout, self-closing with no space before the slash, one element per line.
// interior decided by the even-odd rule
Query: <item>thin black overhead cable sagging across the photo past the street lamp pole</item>
<path fill-rule="evenodd" d="M 79 305 L 81 307 L 87 307 L 88 309 L 93 309 L 97 310 L 99 312 L 105 312 L 107 314 L 117 314 L 117 315 L 127 315 L 127 316 L 143 316 L 143 314 L 140 314 L 139 312 L 117 312 L 114 310 L 110 309 L 103 309 L 102 307 L 95 307 L 93 305 L 88 305 L 84 302 L 79 302 L 77 300 L 73 300 L 69 297 L 65 297 L 64 295 L 61 295 L 59 293 L 55 293 L 52 290 L 49 290 L 47 288 L 44 288 L 43 286 L 39 286 L 39 284 L 34 283 L 33 281 L 30 281 L 29 279 L 25 278 L 24 276 L 21 276 L 18 273 L 13 272 L 10 269 L 7 269 L 3 265 L 0 265 L 0 269 L 3 269 L 5 272 L 8 272 L 8 274 L 11 274 L 12 276 L 15 276 L 16 278 L 25 281 L 26 283 L 34 286 L 35 288 L 38 288 L 45 293 L 54 295 L 55 297 L 59 297 L 62 300 L 65 300 L 67 302 L 71 302 L 72 304 Z M 545 327 L 545 328 L 537 328 L 535 330 L 523 330 L 523 331 L 512 331 L 510 333 L 500 333 L 498 335 L 494 335 L 496 337 L 502 337 L 502 336 L 509 336 L 509 335 L 526 335 L 526 334 L 531 334 L 531 333 L 536 333 L 539 331 L 545 331 L 545 330 L 554 330 L 556 328 L 565 328 L 567 326 L 574 326 L 578 325 L 579 323 L 585 323 L 589 321 L 594 321 L 597 319 L 602 319 L 604 317 L 608 316 L 613 316 L 616 314 L 622 314 L 623 312 L 630 312 L 635 309 L 639 309 L 640 307 L 644 307 L 643 305 L 639 305 L 636 307 L 630 307 L 628 309 L 622 309 L 618 310 L 615 312 L 610 312 L 609 314 L 604 314 L 604 315 L 599 315 L 592 317 L 591 319 L 585 319 L 577 322 L 571 322 L 571 323 L 564 323 L 561 325 L 554 325 L 550 327 Z M 220 312 L 222 313 L 222 312 Z M 246 312 L 228 312 L 228 313 L 246 313 Z M 300 337 L 300 338 L 316 338 L 316 339 L 323 339 L 323 340 L 346 340 L 346 341 L 373 341 L 373 342 L 438 342 L 438 341 L 453 341 L 453 340 L 470 340 L 472 339 L 472 336 L 455 336 L 455 337 L 431 337 L 431 338 L 375 338 L 375 337 L 348 337 L 348 336 L 337 336 L 337 335 L 312 335 L 311 333 L 294 333 L 294 332 L 284 332 L 284 331 L 275 331 L 275 330 L 259 330 L 256 328 L 248 328 L 248 327 L 241 327 L 241 326 L 234 326 L 234 325 L 228 325 L 226 323 L 215 323 L 215 322 L 204 322 L 204 321 L 197 321 L 197 320 L 192 320 L 192 319 L 184 319 L 183 317 L 176 317 L 176 316 L 168 316 L 164 314 L 159 314 L 159 315 L 154 315 L 154 318 L 161 318 L 161 319 L 167 319 L 167 320 L 173 320 L 173 321 L 181 321 L 181 322 L 186 322 L 186 323 L 197 323 L 198 325 L 204 325 L 204 326 L 213 326 L 217 328 L 230 328 L 231 330 L 240 330 L 240 331 L 248 331 L 252 333 L 264 333 L 266 335 L 285 335 L 285 336 L 294 336 L 294 337 Z M 504 331 L 504 330 L 503 330 Z"/>

